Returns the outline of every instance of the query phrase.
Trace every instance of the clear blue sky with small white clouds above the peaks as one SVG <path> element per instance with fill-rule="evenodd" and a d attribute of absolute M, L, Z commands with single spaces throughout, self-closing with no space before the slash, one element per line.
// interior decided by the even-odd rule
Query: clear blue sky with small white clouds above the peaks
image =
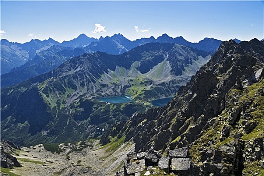
<path fill-rule="evenodd" d="M 167 33 L 191 42 L 260 40 L 263 18 L 263 1 L 1 1 L 1 38 L 62 42 L 121 33 L 135 40 Z"/>

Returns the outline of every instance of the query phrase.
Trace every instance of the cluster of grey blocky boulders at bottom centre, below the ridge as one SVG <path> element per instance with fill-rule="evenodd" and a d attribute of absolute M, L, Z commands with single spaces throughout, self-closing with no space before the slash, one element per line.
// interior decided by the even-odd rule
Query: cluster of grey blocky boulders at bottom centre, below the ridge
<path fill-rule="evenodd" d="M 188 157 L 188 147 L 169 150 L 168 155 L 161 155 L 154 148 L 146 152 L 130 152 L 127 154 L 124 171 L 116 173 L 121 175 L 152 175 L 152 174 L 181 174 L 189 175 L 191 159 Z"/>

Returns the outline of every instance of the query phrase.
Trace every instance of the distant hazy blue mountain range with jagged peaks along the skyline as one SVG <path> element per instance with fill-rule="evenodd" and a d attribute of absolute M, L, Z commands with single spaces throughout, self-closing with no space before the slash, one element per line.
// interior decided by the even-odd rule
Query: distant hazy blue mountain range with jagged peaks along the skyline
<path fill-rule="evenodd" d="M 130 41 L 121 34 L 115 34 L 112 37 L 101 37 L 100 39 L 87 37 L 85 34 L 79 35 L 77 38 L 70 41 L 59 43 L 51 38 L 40 41 L 38 39 L 21 44 L 9 42 L 6 39 L 1 40 L 1 74 L 12 71 L 13 68 L 25 64 L 27 61 L 33 60 L 37 53 L 50 48 L 52 45 L 58 45 L 70 48 L 84 48 L 91 52 L 102 51 L 109 54 L 122 54 L 132 48 L 151 42 L 160 43 L 175 43 L 186 45 L 205 51 L 215 51 L 222 41 L 213 38 L 205 38 L 199 43 L 191 43 L 183 37 L 172 38 L 166 34 L 155 39 L 141 38 L 135 41 Z"/>

